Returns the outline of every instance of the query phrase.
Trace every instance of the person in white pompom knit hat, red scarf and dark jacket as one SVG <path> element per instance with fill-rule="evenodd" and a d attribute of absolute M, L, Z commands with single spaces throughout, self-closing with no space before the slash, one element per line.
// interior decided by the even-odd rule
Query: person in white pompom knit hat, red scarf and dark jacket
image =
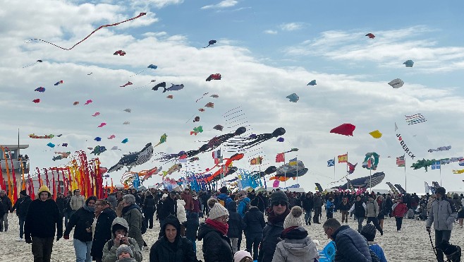
<path fill-rule="evenodd" d="M 209 217 L 200 225 L 197 239 L 203 241 L 205 262 L 233 261 L 231 241 L 227 237 L 228 211 L 216 199 L 209 198 Z"/>

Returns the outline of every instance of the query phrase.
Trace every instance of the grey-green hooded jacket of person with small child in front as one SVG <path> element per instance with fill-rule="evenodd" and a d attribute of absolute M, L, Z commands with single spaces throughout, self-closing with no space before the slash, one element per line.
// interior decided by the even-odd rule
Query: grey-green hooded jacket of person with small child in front
<path fill-rule="evenodd" d="M 113 232 L 113 227 L 116 224 L 126 227 L 126 230 L 130 230 L 128 222 L 126 220 L 124 220 L 123 218 L 114 218 L 113 222 L 111 223 L 111 232 Z M 119 246 L 116 246 L 114 244 L 115 238 L 116 236 L 114 234 L 111 234 L 111 239 L 109 239 L 104 245 L 102 260 L 103 262 L 115 262 L 118 260 L 118 258 L 116 257 L 116 251 L 118 250 Z M 132 249 L 132 252 L 134 254 L 133 258 L 138 262 L 142 261 L 142 252 L 140 252 L 140 248 L 137 241 L 131 237 L 128 237 L 128 239 L 128 246 L 130 246 L 130 249 Z"/>

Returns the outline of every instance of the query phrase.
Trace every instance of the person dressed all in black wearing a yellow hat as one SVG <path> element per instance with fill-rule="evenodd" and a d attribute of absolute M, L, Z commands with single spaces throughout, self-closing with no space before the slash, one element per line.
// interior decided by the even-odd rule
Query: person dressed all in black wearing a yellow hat
<path fill-rule="evenodd" d="M 24 222 L 25 242 L 32 243 L 34 262 L 50 262 L 53 239 L 63 237 L 63 221 L 47 186 L 40 186 L 38 199 L 29 205 Z"/>

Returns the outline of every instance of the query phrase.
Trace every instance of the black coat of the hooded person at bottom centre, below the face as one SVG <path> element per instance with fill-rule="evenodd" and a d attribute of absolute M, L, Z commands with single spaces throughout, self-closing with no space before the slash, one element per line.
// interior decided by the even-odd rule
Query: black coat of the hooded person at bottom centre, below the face
<path fill-rule="evenodd" d="M 174 244 L 170 244 L 166 237 L 158 239 L 149 251 L 149 262 L 197 262 L 190 240 L 177 237 Z"/>

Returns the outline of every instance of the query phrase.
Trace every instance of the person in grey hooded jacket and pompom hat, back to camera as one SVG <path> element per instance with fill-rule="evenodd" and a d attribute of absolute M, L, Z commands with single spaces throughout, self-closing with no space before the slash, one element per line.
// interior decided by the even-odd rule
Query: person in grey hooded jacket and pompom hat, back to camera
<path fill-rule="evenodd" d="M 304 225 L 303 209 L 294 206 L 283 222 L 285 229 L 280 236 L 282 241 L 276 245 L 273 262 L 317 261 L 319 259 L 317 246 L 307 236 Z"/>

